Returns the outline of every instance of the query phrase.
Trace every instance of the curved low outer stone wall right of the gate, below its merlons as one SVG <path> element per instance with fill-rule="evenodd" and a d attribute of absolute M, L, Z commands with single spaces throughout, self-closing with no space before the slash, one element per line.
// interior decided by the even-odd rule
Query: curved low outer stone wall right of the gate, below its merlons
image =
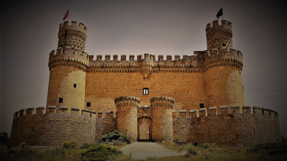
<path fill-rule="evenodd" d="M 173 134 L 184 142 L 251 146 L 282 141 L 278 115 L 229 113 L 195 118 L 174 118 Z M 277 115 L 277 116 L 276 116 Z M 275 117 L 276 116 L 276 117 Z"/>

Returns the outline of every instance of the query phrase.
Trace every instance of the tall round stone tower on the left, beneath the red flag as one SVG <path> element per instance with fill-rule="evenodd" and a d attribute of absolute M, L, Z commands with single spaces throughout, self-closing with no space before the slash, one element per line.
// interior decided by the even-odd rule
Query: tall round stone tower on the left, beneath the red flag
<path fill-rule="evenodd" d="M 87 27 L 76 21 L 60 24 L 58 48 L 49 55 L 47 106 L 83 109 L 85 78 L 89 60 L 84 52 Z"/>

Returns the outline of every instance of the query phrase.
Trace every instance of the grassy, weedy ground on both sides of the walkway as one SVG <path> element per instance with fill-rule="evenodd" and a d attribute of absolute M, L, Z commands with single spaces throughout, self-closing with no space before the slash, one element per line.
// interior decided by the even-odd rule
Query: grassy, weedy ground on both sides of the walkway
<path fill-rule="evenodd" d="M 159 144 L 177 152 L 187 151 L 186 156 L 172 156 L 165 158 L 149 157 L 141 161 L 285 161 L 287 159 L 287 143 L 274 142 L 263 143 L 254 147 L 226 147 L 215 144 L 177 144 L 159 142 Z M 115 146 L 116 148 L 122 145 Z M 2 161 L 52 161 L 52 160 L 111 160 L 132 161 L 131 155 L 123 155 L 116 148 L 110 148 L 108 144 L 87 144 L 75 148 L 54 148 L 53 150 L 31 150 L 30 146 L 21 144 L 16 148 L 7 149 L 7 145 L 0 145 L 0 160 Z M 94 157 L 97 156 L 97 157 Z M 105 159 L 104 156 L 107 156 Z"/>

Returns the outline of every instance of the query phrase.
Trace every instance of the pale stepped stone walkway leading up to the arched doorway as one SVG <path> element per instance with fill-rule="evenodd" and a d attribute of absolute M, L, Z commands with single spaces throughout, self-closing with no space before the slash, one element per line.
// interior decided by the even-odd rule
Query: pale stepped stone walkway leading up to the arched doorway
<path fill-rule="evenodd" d="M 126 145 L 119 150 L 123 151 L 123 154 L 132 153 L 133 159 L 146 159 L 147 156 L 151 157 L 167 157 L 167 156 L 181 156 L 184 154 L 175 152 L 168 148 L 158 145 L 154 142 L 134 142 Z"/>

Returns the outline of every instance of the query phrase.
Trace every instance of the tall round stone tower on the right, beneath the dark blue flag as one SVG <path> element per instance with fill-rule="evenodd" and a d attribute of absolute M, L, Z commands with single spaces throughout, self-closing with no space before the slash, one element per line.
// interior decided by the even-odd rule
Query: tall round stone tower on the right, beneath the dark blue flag
<path fill-rule="evenodd" d="M 206 25 L 205 88 L 207 106 L 245 105 L 242 53 L 232 48 L 232 23 L 215 20 Z M 242 110 L 242 109 L 241 109 Z"/>

